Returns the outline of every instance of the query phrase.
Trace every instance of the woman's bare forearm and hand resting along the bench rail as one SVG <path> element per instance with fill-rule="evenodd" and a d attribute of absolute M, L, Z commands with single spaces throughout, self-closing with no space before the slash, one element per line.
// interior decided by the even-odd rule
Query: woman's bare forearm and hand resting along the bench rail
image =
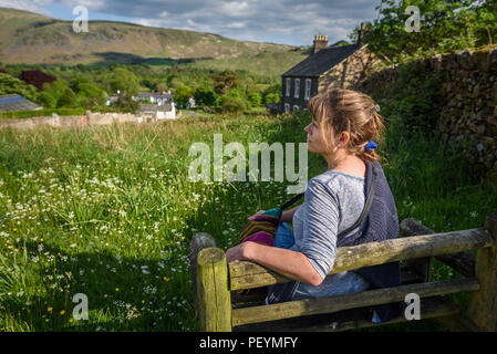
<path fill-rule="evenodd" d="M 248 241 L 230 248 L 226 252 L 226 259 L 229 263 L 251 261 L 267 267 L 289 279 L 314 287 L 321 284 L 323 281 L 323 278 L 321 278 L 303 253 L 283 248 Z"/>

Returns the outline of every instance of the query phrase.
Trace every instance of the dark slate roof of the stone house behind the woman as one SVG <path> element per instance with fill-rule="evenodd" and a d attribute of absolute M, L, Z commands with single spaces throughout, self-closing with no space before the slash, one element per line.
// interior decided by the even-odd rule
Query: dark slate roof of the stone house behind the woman
<path fill-rule="evenodd" d="M 350 44 L 343 46 L 329 46 L 311 54 L 282 76 L 320 76 L 334 65 L 355 53 L 361 46 Z"/>

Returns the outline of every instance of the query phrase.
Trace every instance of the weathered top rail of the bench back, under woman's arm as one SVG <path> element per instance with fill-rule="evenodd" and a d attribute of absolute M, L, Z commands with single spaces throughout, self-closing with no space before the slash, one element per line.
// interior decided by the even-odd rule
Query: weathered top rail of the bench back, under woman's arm
<path fill-rule="evenodd" d="M 398 238 L 354 247 L 340 247 L 332 273 L 428 256 L 455 253 L 490 247 L 493 240 L 485 228 Z M 260 288 L 290 281 L 262 266 L 241 261 L 229 264 L 230 290 Z"/>

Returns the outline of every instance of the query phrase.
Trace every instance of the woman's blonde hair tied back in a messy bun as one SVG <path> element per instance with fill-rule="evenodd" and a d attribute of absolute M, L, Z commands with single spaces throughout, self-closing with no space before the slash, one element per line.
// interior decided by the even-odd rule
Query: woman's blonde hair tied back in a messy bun
<path fill-rule="evenodd" d="M 365 149 L 371 140 L 377 143 L 382 139 L 384 129 L 380 106 L 369 95 L 351 90 L 330 88 L 313 96 L 308 108 L 324 133 L 328 149 L 336 145 L 335 137 L 340 133 L 348 132 L 350 140 L 343 146 L 348 153 L 373 163 L 380 159 L 374 149 Z"/>

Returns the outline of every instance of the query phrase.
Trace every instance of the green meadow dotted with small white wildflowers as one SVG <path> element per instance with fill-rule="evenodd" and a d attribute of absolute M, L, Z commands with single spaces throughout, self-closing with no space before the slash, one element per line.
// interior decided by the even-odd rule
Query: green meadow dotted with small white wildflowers
<path fill-rule="evenodd" d="M 306 113 L 182 117 L 159 124 L 0 131 L 0 331 L 195 331 L 188 243 L 232 244 L 286 183 L 194 183 L 188 148 L 306 142 Z M 380 144 L 398 218 L 436 231 L 482 227 L 495 186 L 436 138 L 392 126 Z M 309 154 L 309 178 L 325 170 Z M 434 279 L 458 277 L 435 262 Z M 89 320 L 74 320 L 77 293 Z M 466 299 L 455 299 L 464 305 Z M 385 326 L 389 329 L 390 326 Z M 441 330 L 421 321 L 400 331 Z"/>

